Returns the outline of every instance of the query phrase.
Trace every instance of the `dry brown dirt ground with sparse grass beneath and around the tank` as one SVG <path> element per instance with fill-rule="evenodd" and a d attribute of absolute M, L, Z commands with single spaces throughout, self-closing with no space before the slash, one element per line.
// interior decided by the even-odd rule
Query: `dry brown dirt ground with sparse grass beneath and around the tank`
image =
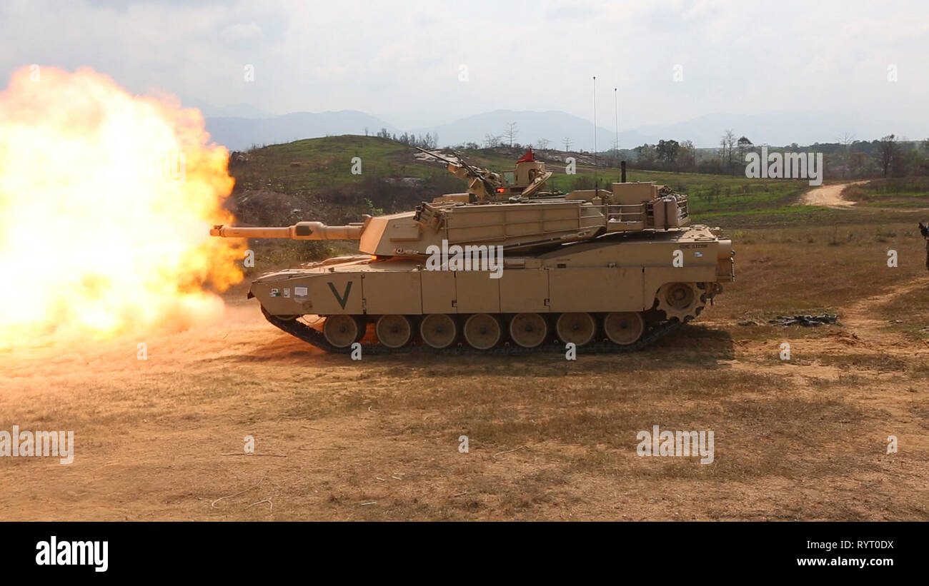
<path fill-rule="evenodd" d="M 715 306 L 629 355 L 353 362 L 241 290 L 210 328 L 0 353 L 0 429 L 76 444 L 0 458 L 0 519 L 929 520 L 922 240 L 888 245 L 912 257 L 894 274 L 853 264 L 871 228 L 738 237 Z M 759 318 L 806 301 L 841 325 Z M 653 426 L 713 430 L 713 464 L 638 456 Z"/>

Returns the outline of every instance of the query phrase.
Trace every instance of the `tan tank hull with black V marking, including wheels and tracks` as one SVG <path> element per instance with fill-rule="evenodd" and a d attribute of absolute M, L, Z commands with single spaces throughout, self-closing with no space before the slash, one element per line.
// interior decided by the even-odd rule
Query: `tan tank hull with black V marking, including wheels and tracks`
<path fill-rule="evenodd" d="M 455 270 L 453 262 L 429 266 L 422 258 L 327 261 L 264 274 L 253 282 L 249 297 L 258 299 L 279 327 L 303 315 L 350 317 L 353 322 L 334 321 L 341 320 L 343 329 L 357 325 L 358 335 L 326 333 L 330 344 L 317 344 L 326 350 L 349 348 L 369 325 L 375 326 L 374 338 L 388 346 L 425 341 L 436 348 L 441 342 L 429 328 L 439 321 L 456 332 L 450 346 L 478 350 L 541 347 L 540 338 L 545 344 L 612 340 L 632 347 L 653 330 L 696 318 L 721 291 L 720 283 L 734 279 L 732 257 L 729 240 L 705 226 L 691 226 L 601 236 L 532 253 L 504 251 L 496 270 Z M 429 316 L 451 321 L 427 321 Z"/>

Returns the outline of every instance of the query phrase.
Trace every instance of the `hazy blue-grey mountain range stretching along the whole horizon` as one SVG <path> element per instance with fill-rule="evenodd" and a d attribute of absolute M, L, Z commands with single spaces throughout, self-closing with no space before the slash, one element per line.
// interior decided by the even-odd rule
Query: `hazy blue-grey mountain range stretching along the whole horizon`
<path fill-rule="evenodd" d="M 249 112 L 247 105 L 226 107 L 229 111 Z M 204 109 L 219 111 L 220 108 Z M 253 114 L 263 114 L 251 108 Z M 607 114 L 609 117 L 609 114 Z M 697 147 L 718 147 L 720 137 L 726 129 L 732 129 L 736 137 L 747 136 L 755 145 L 767 144 L 776 147 L 797 143 L 801 146 L 816 142 L 836 142 L 844 133 L 854 134 L 858 140 L 873 140 L 885 134 L 897 137 L 908 136 L 907 128 L 900 128 L 892 119 L 892 112 L 870 112 L 867 116 L 847 112 L 767 112 L 765 114 L 707 114 L 688 121 L 673 124 L 650 124 L 620 131 L 620 147 L 635 148 L 648 143 L 656 144 L 661 139 L 678 142 L 691 140 Z M 594 124 L 567 112 L 549 110 L 544 112 L 494 110 L 438 126 L 398 129 L 386 121 L 357 110 L 337 112 L 295 112 L 284 116 L 209 116 L 206 129 L 213 134 L 217 143 L 231 150 L 242 150 L 253 145 L 273 145 L 326 135 L 377 134 L 386 128 L 391 134 L 404 131 L 414 134 L 438 134 L 439 146 L 477 143 L 483 146 L 488 135 L 504 136 L 510 122 L 517 123 L 514 142 L 536 146 L 540 139 L 549 141 L 549 148 L 564 148 L 565 138 L 570 139 L 574 151 L 592 150 L 594 147 Z M 925 130 L 909 129 L 909 138 L 925 136 Z M 615 132 L 605 126 L 596 129 L 596 147 L 608 150 L 613 145 Z"/>

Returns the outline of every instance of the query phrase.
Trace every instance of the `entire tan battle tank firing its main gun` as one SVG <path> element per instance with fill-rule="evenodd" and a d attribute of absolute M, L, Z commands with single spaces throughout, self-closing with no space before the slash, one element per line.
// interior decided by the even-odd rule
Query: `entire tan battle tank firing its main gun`
<path fill-rule="evenodd" d="M 564 351 L 568 342 L 635 350 L 699 316 L 734 278 L 731 241 L 687 226 L 687 196 L 664 186 L 474 196 L 343 226 L 219 225 L 210 234 L 359 240 L 357 256 L 263 274 L 248 293 L 271 324 L 330 351 L 362 339 L 376 339 L 365 352 Z M 308 315 L 324 318 L 320 329 Z"/>

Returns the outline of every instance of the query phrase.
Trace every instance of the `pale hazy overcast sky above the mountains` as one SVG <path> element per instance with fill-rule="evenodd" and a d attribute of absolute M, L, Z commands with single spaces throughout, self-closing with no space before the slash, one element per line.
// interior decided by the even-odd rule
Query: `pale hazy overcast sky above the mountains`
<path fill-rule="evenodd" d="M 608 127 L 619 87 L 621 128 L 804 110 L 922 133 L 927 59 L 924 0 L 0 4 L 4 87 L 24 65 L 88 65 L 191 105 L 359 109 L 399 127 L 497 108 L 590 120 L 596 75 Z"/>

